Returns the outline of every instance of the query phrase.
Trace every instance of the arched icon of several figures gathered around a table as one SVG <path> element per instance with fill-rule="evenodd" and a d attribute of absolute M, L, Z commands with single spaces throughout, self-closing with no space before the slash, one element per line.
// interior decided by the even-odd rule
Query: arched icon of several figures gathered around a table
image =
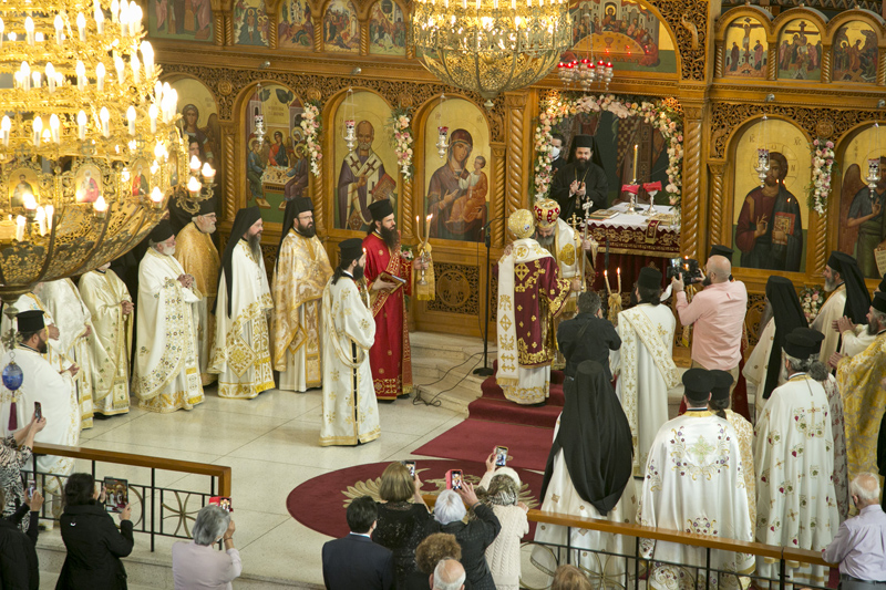
<path fill-rule="evenodd" d="M 286 203 L 309 196 L 310 163 L 301 135 L 303 112 L 296 94 L 278 84 L 261 86 L 247 102 L 246 201 L 258 205 L 265 221 L 282 224 Z M 264 137 L 256 131 L 258 121 L 264 122 Z"/>

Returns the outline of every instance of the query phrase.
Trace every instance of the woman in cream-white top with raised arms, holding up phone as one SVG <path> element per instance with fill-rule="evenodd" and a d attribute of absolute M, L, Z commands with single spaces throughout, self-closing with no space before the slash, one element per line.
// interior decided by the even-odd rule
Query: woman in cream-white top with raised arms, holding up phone
<path fill-rule="evenodd" d="M 486 458 L 486 473 L 477 484 L 481 501 L 492 508 L 502 530 L 486 548 L 495 590 L 519 590 L 521 545 L 529 532 L 529 507 L 519 501 L 522 483 L 517 472 L 511 467 L 495 468 L 496 453 Z M 482 489 L 481 489 L 482 488 Z"/>

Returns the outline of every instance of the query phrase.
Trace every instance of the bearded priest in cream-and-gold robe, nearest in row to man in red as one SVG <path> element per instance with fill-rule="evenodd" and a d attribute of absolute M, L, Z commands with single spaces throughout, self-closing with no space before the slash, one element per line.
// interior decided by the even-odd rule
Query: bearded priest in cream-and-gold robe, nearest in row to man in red
<path fill-rule="evenodd" d="M 313 226 L 313 204 L 296 197 L 286 204 L 271 296 L 274 369 L 278 389 L 305 392 L 322 383 L 320 309 L 332 267 Z"/>

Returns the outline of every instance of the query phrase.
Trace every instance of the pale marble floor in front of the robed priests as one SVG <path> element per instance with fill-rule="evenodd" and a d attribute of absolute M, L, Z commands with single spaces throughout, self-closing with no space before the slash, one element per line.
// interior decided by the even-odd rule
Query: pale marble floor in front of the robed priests
<path fill-rule="evenodd" d="M 235 539 L 245 572 L 322 583 L 320 550 L 330 537 L 303 527 L 289 515 L 289 493 L 308 479 L 342 467 L 421 458 L 410 451 L 463 418 L 450 410 L 413 405 L 411 398 L 398 400 L 380 405 L 379 439 L 359 447 L 323 448 L 317 443 L 320 403 L 320 390 L 271 390 L 245 401 L 223 400 L 215 387 L 209 387 L 206 402 L 190 412 L 153 414 L 133 407 L 127 415 L 96 420 L 93 428 L 82 433 L 81 446 L 230 466 Z M 86 463 L 78 467 L 89 468 Z M 147 469 L 122 466 L 100 466 L 96 477 L 104 476 L 150 482 Z M 208 490 L 209 486 L 205 476 L 171 472 L 158 473 L 157 483 L 192 490 Z M 135 541 L 134 557 L 169 562 L 172 539 L 157 538 L 153 555 L 146 535 L 136 535 Z M 40 542 L 58 546 L 61 539 L 58 531 L 52 531 L 41 535 Z M 52 581 L 41 580 L 41 587 L 51 588 Z"/>

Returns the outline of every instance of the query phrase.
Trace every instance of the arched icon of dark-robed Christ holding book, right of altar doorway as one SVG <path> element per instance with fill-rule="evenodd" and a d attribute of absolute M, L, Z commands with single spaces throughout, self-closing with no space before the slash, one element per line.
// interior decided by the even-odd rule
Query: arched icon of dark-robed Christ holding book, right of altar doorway
<path fill-rule="evenodd" d="M 769 149 L 767 170 L 760 166 L 758 149 Z M 742 133 L 732 163 L 732 265 L 804 272 L 806 185 L 812 174 L 808 139 L 786 121 L 760 121 Z"/>

